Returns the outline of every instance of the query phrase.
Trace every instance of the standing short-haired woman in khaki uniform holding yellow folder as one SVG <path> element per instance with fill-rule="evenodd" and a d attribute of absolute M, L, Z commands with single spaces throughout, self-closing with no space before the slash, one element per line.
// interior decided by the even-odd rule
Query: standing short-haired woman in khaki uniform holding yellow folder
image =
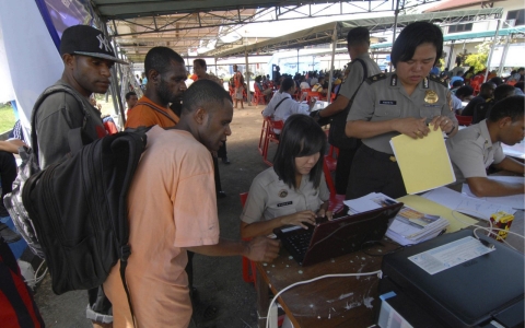
<path fill-rule="evenodd" d="M 363 142 L 352 162 L 347 198 L 370 192 L 392 198 L 407 195 L 389 144 L 392 138 L 400 133 L 424 138 L 438 127 L 448 137 L 457 132 L 447 83 L 429 75 L 442 54 L 440 27 L 427 22 L 411 23 L 392 48 L 396 71 L 370 77 L 361 85 L 346 126 L 348 137 Z"/>

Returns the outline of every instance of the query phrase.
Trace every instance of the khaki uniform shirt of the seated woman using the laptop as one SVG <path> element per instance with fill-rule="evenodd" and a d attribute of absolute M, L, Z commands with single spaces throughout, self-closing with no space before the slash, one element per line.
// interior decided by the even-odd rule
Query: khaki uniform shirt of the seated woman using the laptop
<path fill-rule="evenodd" d="M 273 167 L 269 167 L 259 173 L 252 183 L 241 220 L 249 224 L 305 210 L 317 212 L 329 198 L 330 191 L 324 175 L 317 189 L 310 181 L 310 175 L 303 175 L 301 186 L 295 190 L 279 179 Z"/>

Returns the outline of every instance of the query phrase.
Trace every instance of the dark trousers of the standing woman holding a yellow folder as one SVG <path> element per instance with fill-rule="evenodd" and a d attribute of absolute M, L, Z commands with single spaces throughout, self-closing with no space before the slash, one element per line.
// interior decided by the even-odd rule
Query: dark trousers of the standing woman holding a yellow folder
<path fill-rule="evenodd" d="M 370 192 L 383 192 L 392 198 L 407 195 L 399 165 L 390 161 L 390 156 L 362 144 L 353 157 L 347 199 Z"/>

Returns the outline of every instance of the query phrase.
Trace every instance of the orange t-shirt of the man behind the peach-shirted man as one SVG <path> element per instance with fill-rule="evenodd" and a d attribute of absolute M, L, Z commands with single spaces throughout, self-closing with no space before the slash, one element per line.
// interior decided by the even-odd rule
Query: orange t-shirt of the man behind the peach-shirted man
<path fill-rule="evenodd" d="M 158 110 L 150 106 L 153 106 Z M 142 96 L 133 109 L 128 113 L 125 128 L 151 127 L 155 125 L 162 128 L 171 128 L 176 126 L 179 120 L 178 116 L 170 108 L 163 108 L 156 105 L 147 96 Z"/>

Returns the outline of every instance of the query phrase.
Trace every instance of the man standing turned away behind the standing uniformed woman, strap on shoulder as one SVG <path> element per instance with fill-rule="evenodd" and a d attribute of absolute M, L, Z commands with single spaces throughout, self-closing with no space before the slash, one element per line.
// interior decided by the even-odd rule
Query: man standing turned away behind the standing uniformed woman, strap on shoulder
<path fill-rule="evenodd" d="M 345 134 L 347 116 L 352 106 L 352 99 L 361 82 L 368 77 L 381 73 L 381 69 L 369 56 L 370 32 L 366 27 L 355 27 L 347 35 L 348 54 L 352 60 L 346 70 L 345 81 L 339 89 L 336 99 L 328 107 L 317 112 L 318 119 L 331 117 L 328 142 L 339 149 L 336 168 L 336 192 L 347 194 L 348 178 L 353 155 L 361 144 L 361 140 L 348 138 Z"/>

